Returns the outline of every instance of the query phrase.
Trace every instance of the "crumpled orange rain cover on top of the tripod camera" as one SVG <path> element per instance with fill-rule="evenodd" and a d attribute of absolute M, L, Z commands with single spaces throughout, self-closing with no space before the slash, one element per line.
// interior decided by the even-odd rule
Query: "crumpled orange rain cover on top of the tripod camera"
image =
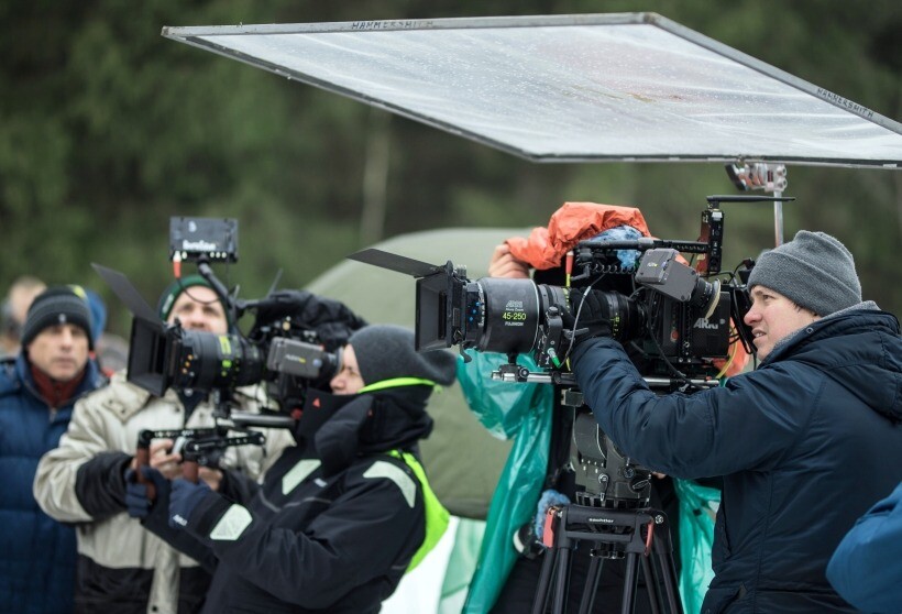
<path fill-rule="evenodd" d="M 534 228 L 528 238 L 506 241 L 510 255 L 534 268 L 553 268 L 564 254 L 580 241 L 592 239 L 616 226 L 631 226 L 650 237 L 642 212 L 635 207 L 598 205 L 597 202 L 564 202 L 554 211 L 548 228 Z"/>

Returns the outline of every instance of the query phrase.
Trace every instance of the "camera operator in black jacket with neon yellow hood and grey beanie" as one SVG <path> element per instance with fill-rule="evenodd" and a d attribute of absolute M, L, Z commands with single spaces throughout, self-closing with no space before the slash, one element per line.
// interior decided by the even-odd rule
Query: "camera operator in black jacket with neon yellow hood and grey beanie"
<path fill-rule="evenodd" d="M 444 350 L 418 353 L 408 329 L 361 328 L 341 352 L 334 394 L 307 391 L 297 446 L 253 495 L 173 481 L 169 525 L 218 559 L 204 613 L 377 613 L 448 526 L 417 443 L 432 429 L 427 401 L 454 382 L 455 362 Z"/>

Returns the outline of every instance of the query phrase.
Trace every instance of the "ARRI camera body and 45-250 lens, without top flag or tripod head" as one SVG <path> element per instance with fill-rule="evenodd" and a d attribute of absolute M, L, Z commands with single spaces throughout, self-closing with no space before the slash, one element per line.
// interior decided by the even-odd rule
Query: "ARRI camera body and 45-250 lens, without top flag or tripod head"
<path fill-rule="evenodd" d="M 565 329 L 561 309 L 588 290 L 598 294 L 612 337 L 639 349 L 644 374 L 716 374 L 713 361 L 728 357 L 737 336 L 750 349 L 751 336 L 743 322 L 741 309 L 749 305 L 744 282 L 738 276 L 725 285 L 707 281 L 678 257 L 681 251 L 710 249 L 710 243 L 653 239 L 584 241 L 574 249 L 571 287 L 531 279 L 471 281 L 465 268 L 448 262 L 417 281 L 417 349 L 531 353 L 543 370 L 565 370 L 576 331 Z M 619 250 L 640 251 L 638 266 L 623 267 Z M 708 268 L 706 276 L 717 273 Z M 625 287 L 628 294 L 614 289 Z"/>

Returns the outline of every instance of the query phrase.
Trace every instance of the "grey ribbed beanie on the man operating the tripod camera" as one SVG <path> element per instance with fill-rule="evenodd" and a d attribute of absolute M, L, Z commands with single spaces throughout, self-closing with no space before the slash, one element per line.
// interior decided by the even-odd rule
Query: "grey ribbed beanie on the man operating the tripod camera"
<path fill-rule="evenodd" d="M 851 253 L 824 232 L 800 230 L 792 241 L 761 252 L 748 287 L 777 290 L 818 316 L 861 303 L 861 283 Z"/>

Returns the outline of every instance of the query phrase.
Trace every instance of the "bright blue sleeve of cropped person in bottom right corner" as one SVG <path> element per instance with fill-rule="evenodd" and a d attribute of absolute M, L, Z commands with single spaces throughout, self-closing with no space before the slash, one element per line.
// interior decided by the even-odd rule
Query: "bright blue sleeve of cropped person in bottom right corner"
<path fill-rule="evenodd" d="M 864 612 L 902 612 L 902 482 L 843 538 L 827 579 Z"/>

